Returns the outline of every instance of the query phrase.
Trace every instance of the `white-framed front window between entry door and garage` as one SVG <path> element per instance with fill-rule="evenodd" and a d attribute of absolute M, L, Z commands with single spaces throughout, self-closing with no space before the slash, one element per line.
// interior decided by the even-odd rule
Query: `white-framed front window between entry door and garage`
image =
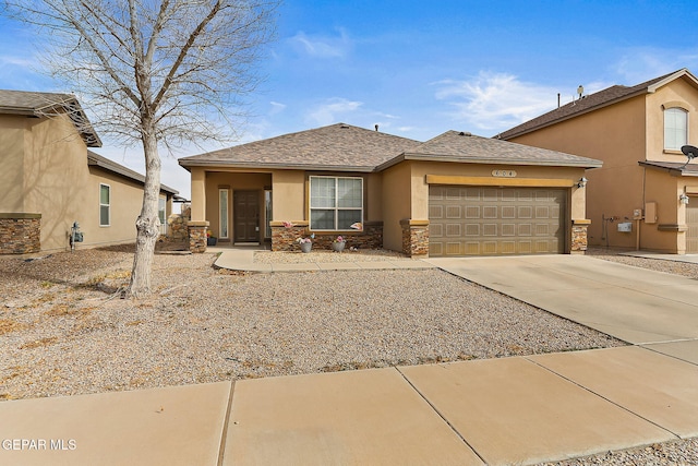
<path fill-rule="evenodd" d="M 310 177 L 310 227 L 348 230 L 363 222 L 363 179 Z"/>

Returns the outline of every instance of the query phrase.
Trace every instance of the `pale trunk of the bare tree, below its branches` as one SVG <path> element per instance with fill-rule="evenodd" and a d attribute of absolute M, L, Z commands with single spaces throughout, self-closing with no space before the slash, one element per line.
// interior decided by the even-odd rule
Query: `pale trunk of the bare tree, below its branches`
<path fill-rule="evenodd" d="M 158 217 L 158 198 L 160 194 L 160 156 L 157 151 L 155 131 L 143 131 L 145 152 L 145 186 L 143 207 L 135 222 L 136 240 L 131 284 L 128 294 L 142 297 L 151 292 L 151 271 L 155 255 L 155 242 L 160 234 Z"/>

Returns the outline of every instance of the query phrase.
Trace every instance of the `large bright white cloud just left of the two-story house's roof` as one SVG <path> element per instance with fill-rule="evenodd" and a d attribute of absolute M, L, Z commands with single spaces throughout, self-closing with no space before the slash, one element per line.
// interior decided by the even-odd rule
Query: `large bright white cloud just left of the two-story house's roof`
<path fill-rule="evenodd" d="M 436 98 L 455 108 L 450 117 L 480 131 L 504 131 L 557 105 L 558 89 L 522 82 L 507 73 L 481 71 L 466 81 L 434 84 L 440 86 Z"/>

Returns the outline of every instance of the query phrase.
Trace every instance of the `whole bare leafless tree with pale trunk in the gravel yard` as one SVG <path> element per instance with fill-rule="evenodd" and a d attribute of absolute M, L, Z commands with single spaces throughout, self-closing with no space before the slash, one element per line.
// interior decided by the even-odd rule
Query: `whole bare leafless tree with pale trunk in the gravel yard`
<path fill-rule="evenodd" d="M 47 69 L 65 80 L 115 142 L 142 144 L 143 207 L 129 294 L 151 290 L 158 237 L 158 146 L 226 139 L 255 63 L 274 35 L 277 0 L 7 0 L 50 40 Z M 48 34 L 47 34 L 48 33 Z"/>

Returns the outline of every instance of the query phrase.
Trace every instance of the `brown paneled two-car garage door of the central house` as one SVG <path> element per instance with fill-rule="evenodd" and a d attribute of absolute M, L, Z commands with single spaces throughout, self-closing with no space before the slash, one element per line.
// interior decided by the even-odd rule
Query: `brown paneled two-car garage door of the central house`
<path fill-rule="evenodd" d="M 430 186 L 429 254 L 562 253 L 566 191 Z"/>

